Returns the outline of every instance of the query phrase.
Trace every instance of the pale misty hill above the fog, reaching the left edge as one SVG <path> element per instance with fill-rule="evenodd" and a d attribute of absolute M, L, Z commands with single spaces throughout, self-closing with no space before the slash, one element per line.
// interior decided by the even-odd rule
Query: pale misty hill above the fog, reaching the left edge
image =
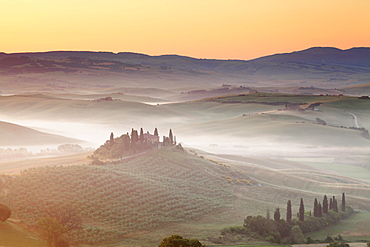
<path fill-rule="evenodd" d="M 38 120 L 71 120 L 107 123 L 113 120 L 128 120 L 133 116 L 170 116 L 156 106 L 132 101 L 67 100 L 44 95 L 19 95 L 0 97 L 1 113 L 19 119 L 33 116 Z M 176 113 L 178 114 L 178 113 Z"/>

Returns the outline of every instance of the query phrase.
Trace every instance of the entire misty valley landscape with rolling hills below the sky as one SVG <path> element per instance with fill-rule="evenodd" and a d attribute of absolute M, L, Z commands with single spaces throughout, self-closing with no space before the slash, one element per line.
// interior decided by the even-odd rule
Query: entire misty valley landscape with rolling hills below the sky
<path fill-rule="evenodd" d="M 0 53 L 0 246 L 369 246 L 369 57 Z"/>

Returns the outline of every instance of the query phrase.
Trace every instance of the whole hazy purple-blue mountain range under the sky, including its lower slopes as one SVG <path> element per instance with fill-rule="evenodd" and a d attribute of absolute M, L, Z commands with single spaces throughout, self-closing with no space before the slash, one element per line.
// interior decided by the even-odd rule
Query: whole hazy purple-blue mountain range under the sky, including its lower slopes
<path fill-rule="evenodd" d="M 27 91 L 66 91 L 72 87 L 88 91 L 93 87 L 98 92 L 102 87 L 111 92 L 154 87 L 183 93 L 223 84 L 336 89 L 370 83 L 370 48 L 313 47 L 253 60 L 131 52 L 0 53 L 1 76 L 6 77 L 2 93 L 14 92 L 15 87 L 31 87 Z"/>

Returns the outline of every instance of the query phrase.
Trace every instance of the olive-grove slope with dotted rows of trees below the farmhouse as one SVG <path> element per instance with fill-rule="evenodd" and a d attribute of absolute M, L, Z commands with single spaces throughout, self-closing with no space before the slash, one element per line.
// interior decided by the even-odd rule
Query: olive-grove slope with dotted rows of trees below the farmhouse
<path fill-rule="evenodd" d="M 72 242 L 101 243 L 225 210 L 234 186 L 253 184 L 244 172 L 170 147 L 103 166 L 32 168 L 12 177 L 2 196 L 31 228 L 68 206 L 83 220 Z"/>

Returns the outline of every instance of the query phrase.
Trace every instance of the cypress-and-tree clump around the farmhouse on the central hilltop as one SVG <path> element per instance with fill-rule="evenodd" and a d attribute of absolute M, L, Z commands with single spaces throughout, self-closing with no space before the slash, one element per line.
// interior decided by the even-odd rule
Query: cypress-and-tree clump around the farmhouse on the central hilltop
<path fill-rule="evenodd" d="M 143 128 L 140 128 L 140 133 L 135 129 L 131 129 L 131 134 L 127 132 L 116 138 L 112 132 L 109 140 L 96 149 L 91 158 L 93 159 L 93 164 L 99 164 L 99 158 L 118 159 L 175 144 L 176 136 L 172 134 L 171 129 L 168 136 L 163 136 L 162 142 L 160 142 L 157 128 L 154 129 L 153 134 L 150 134 L 149 131 L 144 133 Z"/>

